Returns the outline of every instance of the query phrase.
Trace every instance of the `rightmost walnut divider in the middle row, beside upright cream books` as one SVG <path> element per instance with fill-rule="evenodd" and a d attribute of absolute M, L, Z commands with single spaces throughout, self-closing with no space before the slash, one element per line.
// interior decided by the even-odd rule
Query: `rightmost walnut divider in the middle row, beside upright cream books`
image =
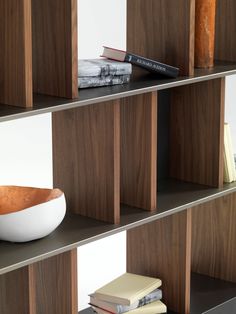
<path fill-rule="evenodd" d="M 172 90 L 171 177 L 223 184 L 224 86 L 225 80 L 217 79 Z"/>

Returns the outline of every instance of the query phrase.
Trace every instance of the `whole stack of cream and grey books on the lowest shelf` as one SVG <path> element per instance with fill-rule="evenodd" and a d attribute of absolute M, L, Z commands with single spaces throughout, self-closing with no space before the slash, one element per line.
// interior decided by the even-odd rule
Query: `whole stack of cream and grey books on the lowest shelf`
<path fill-rule="evenodd" d="M 166 313 L 160 286 L 160 279 L 125 273 L 91 294 L 90 305 L 98 314 Z"/>

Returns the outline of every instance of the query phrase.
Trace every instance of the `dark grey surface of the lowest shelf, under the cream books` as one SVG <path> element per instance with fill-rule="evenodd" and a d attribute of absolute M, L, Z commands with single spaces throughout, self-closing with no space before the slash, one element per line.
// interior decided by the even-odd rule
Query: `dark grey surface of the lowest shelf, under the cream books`
<path fill-rule="evenodd" d="M 88 308 L 79 314 L 93 314 Z M 236 284 L 192 274 L 190 314 L 235 314 Z M 167 314 L 174 314 L 168 311 Z"/>

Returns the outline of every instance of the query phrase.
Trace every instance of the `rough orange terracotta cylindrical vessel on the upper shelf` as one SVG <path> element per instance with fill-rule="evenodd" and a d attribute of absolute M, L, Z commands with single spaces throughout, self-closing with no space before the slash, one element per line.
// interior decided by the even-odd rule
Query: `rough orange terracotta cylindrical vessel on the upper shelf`
<path fill-rule="evenodd" d="M 214 65 L 216 0 L 196 0 L 195 67 Z"/>

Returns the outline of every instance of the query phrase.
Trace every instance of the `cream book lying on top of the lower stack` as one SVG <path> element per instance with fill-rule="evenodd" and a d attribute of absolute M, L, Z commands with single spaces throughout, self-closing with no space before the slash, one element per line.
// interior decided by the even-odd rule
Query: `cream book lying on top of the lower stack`
<path fill-rule="evenodd" d="M 107 302 L 131 305 L 161 286 L 161 280 L 125 273 L 94 293 L 94 297 Z"/>

